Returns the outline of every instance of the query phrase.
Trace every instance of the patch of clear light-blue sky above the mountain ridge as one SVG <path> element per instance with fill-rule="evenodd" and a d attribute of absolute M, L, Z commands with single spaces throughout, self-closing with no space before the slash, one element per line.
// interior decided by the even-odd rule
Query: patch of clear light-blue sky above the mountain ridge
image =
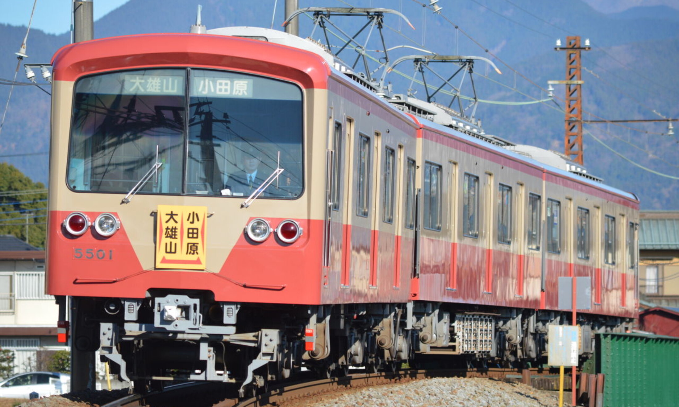
<path fill-rule="evenodd" d="M 0 0 L 2 13 L 0 23 L 27 26 L 31 18 L 34 0 Z M 95 0 L 94 20 L 105 16 L 130 0 Z M 50 34 L 71 31 L 72 0 L 37 0 L 31 29 L 37 28 Z"/>

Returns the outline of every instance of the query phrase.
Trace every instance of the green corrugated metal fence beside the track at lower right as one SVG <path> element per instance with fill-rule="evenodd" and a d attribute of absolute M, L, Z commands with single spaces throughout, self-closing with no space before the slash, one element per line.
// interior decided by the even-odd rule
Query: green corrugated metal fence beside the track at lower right
<path fill-rule="evenodd" d="M 596 370 L 606 375 L 604 407 L 679 406 L 679 338 L 597 336 Z"/>

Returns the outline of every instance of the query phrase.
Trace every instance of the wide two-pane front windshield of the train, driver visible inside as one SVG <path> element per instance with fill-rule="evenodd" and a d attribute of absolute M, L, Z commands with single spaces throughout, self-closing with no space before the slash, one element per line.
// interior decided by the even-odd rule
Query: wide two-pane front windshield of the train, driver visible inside
<path fill-rule="evenodd" d="M 276 79 L 202 69 L 93 75 L 75 84 L 74 191 L 294 199 L 303 190 L 302 94 Z M 157 164 L 159 163 L 159 164 Z"/>

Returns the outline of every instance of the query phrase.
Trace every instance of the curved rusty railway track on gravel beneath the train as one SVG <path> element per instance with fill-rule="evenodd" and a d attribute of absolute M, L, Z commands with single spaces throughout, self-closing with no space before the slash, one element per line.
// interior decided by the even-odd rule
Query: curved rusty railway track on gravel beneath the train
<path fill-rule="evenodd" d="M 238 398 L 238 387 L 215 383 L 184 383 L 166 387 L 163 391 L 152 391 L 145 395 L 132 394 L 115 400 L 102 407 L 264 407 L 280 406 L 306 398 L 316 398 L 327 393 L 344 392 L 380 385 L 401 384 L 435 377 L 485 378 L 521 381 L 521 377 L 532 381 L 550 380 L 552 373 L 540 368 L 524 369 L 488 368 L 483 370 L 437 369 L 400 370 L 398 372 L 356 373 L 330 379 L 308 379 L 294 383 L 280 383 L 267 391 L 249 398 Z M 545 379 L 547 378 L 547 379 Z"/>

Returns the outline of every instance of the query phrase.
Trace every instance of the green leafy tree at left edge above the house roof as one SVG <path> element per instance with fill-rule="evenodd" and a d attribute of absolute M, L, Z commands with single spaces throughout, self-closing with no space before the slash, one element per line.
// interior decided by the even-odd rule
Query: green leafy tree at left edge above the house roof
<path fill-rule="evenodd" d="M 0 163 L 0 235 L 14 235 L 44 248 L 46 222 L 45 185 L 33 182 L 10 164 Z"/>

